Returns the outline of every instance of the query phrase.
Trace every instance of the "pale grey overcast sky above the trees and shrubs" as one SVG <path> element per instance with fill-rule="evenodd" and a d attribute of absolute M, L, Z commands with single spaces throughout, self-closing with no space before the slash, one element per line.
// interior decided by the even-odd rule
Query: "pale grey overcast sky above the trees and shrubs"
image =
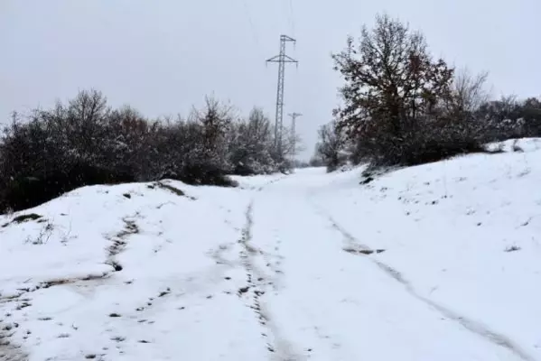
<path fill-rule="evenodd" d="M 338 104 L 331 51 L 387 12 L 422 30 L 431 50 L 488 70 L 495 96 L 541 95 L 538 0 L 0 0 L 0 123 L 97 88 L 145 116 L 187 114 L 206 94 L 274 119 L 279 35 L 288 54 L 284 112 L 307 158 Z M 289 122 L 289 118 L 285 119 Z"/>

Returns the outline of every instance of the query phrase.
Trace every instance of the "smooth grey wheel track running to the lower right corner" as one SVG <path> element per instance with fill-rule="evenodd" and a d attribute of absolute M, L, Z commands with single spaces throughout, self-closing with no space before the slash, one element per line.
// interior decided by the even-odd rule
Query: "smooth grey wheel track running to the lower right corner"
<path fill-rule="evenodd" d="M 367 245 L 363 245 L 361 242 L 359 242 L 359 240 L 356 237 L 352 236 L 343 227 L 341 227 L 338 224 L 338 222 L 336 222 L 333 218 L 331 218 L 330 215 L 324 212 L 322 208 L 319 208 L 312 201 L 310 201 L 310 203 L 312 204 L 316 213 L 326 218 L 331 223 L 331 226 L 340 232 L 340 234 L 345 238 L 345 242 L 347 245 L 350 245 L 352 249 L 359 249 L 361 251 L 368 251 L 372 253 L 372 250 Z M 346 249 L 344 250 L 347 251 Z M 359 252 L 357 253 L 357 255 L 365 255 L 365 254 L 363 254 L 362 252 Z M 408 292 L 412 297 L 414 297 L 418 301 L 422 301 L 424 304 L 428 305 L 433 310 L 438 311 L 441 315 L 443 315 L 443 317 L 447 319 L 452 319 L 453 321 L 459 323 L 464 329 L 471 331 L 473 334 L 480 336 L 481 338 L 487 340 L 488 342 L 490 342 L 491 344 L 495 346 L 506 348 L 508 351 L 513 353 L 515 356 L 518 356 L 522 360 L 536 361 L 535 357 L 528 355 L 527 352 L 524 349 L 522 349 L 522 347 L 518 346 L 516 342 L 514 342 L 507 336 L 499 332 L 496 332 L 492 329 L 489 329 L 488 326 L 482 324 L 480 321 L 469 319 L 453 310 L 450 310 L 444 307 L 443 305 L 435 301 L 427 299 L 426 297 L 416 292 L 413 285 L 410 282 L 408 282 L 402 276 L 402 274 L 396 271 L 394 268 L 392 268 L 388 264 L 384 264 L 383 262 L 378 261 L 377 259 L 374 259 L 373 257 L 367 257 L 367 258 L 370 262 L 372 262 L 373 264 L 376 264 L 380 270 L 382 270 L 384 273 L 387 273 L 388 276 L 390 276 L 396 282 L 399 282 L 401 285 L 403 285 L 406 288 L 406 292 Z"/>

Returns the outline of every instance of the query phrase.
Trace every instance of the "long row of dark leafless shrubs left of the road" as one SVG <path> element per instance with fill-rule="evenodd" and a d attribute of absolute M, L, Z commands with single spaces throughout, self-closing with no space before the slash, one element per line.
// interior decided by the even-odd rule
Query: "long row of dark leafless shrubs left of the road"
<path fill-rule="evenodd" d="M 227 174 L 242 171 L 242 164 L 251 173 L 276 170 L 269 126 L 261 111 L 238 123 L 230 106 L 210 97 L 187 120 L 151 122 L 129 106 L 112 109 L 98 91 L 81 91 L 24 120 L 15 116 L 5 127 L 0 212 L 32 208 L 94 184 L 170 178 L 235 186 Z M 232 138 L 233 129 L 243 129 L 242 136 Z"/>

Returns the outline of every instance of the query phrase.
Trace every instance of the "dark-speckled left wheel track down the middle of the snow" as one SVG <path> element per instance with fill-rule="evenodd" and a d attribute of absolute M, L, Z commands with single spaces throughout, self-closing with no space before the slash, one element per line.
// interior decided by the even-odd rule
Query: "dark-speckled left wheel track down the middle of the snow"
<path fill-rule="evenodd" d="M 305 359 L 305 356 L 294 352 L 293 344 L 280 336 L 280 330 L 273 322 L 272 316 L 266 309 L 266 303 L 263 296 L 268 291 L 268 286 L 273 282 L 266 282 L 266 274 L 261 270 L 256 262 L 257 256 L 263 255 L 254 245 L 251 245 L 254 201 L 252 200 L 246 210 L 246 225 L 242 230 L 242 238 L 239 243 L 242 245 L 240 259 L 247 272 L 247 286 L 238 291 L 239 297 L 248 296 L 251 302 L 247 307 L 254 310 L 259 324 L 264 328 L 261 335 L 266 338 L 266 348 L 271 353 L 270 359 L 276 361 L 299 361 Z"/>

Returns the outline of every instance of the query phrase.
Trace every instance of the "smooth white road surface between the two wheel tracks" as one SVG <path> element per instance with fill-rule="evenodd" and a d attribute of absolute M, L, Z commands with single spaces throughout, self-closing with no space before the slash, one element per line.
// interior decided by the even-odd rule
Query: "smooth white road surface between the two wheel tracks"
<path fill-rule="evenodd" d="M 259 192 L 248 245 L 276 360 L 532 360 L 512 341 L 415 294 L 317 204 L 302 171 Z M 315 180 L 318 180 L 315 178 Z M 362 219 L 359 219 L 362 222 Z"/>

